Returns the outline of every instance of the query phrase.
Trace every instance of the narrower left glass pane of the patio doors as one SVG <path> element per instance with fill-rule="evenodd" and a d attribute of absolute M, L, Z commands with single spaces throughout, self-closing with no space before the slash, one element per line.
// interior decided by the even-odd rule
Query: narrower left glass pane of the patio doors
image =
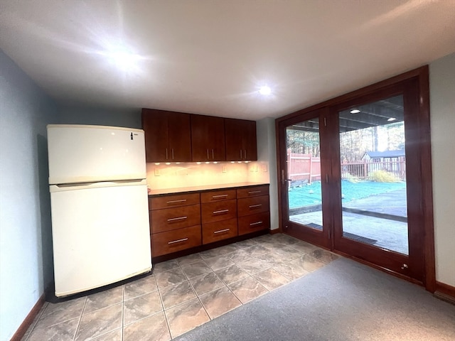
<path fill-rule="evenodd" d="M 322 230 L 319 119 L 287 126 L 289 220 Z"/>

